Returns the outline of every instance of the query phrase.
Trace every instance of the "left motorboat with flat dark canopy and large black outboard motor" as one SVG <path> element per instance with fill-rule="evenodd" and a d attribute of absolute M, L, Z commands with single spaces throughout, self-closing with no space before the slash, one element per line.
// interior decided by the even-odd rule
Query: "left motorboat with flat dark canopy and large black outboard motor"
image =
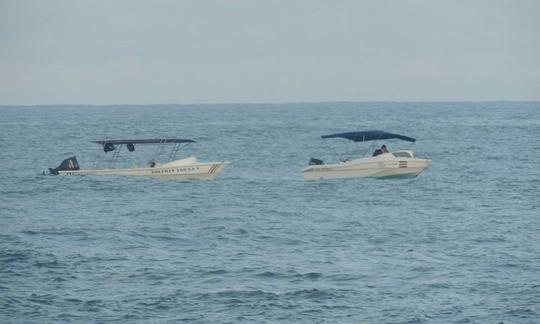
<path fill-rule="evenodd" d="M 50 168 L 49 173 L 60 176 L 82 176 L 82 175 L 123 175 L 123 176 L 149 176 L 162 179 L 207 179 L 213 180 L 229 164 L 222 162 L 199 162 L 194 156 L 183 159 L 176 159 L 177 152 L 188 144 L 195 141 L 190 139 L 128 139 L 128 140 L 100 140 L 93 143 L 98 145 L 98 153 L 94 167 L 91 169 L 81 169 L 75 156 L 62 161 L 57 168 Z M 134 152 L 139 145 L 154 145 L 156 147 L 154 158 L 144 167 L 139 167 L 133 163 L 127 168 L 101 168 L 103 163 L 102 154 L 112 155 L 109 165 L 114 165 L 120 157 L 122 147 L 126 147 L 129 152 Z M 165 146 L 171 147 L 169 158 L 161 163 L 160 157 Z"/>

